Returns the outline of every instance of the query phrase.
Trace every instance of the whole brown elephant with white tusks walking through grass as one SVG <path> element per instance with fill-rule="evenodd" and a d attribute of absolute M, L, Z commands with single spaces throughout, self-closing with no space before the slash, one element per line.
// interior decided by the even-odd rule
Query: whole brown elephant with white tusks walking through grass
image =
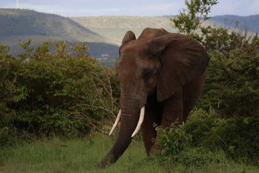
<path fill-rule="evenodd" d="M 209 61 L 204 47 L 187 35 L 146 28 L 136 39 L 127 31 L 116 65 L 121 96 L 112 131 L 121 120 L 119 134 L 97 167 L 115 163 L 140 129 L 147 156 L 153 154 L 159 148 L 152 142 L 153 124 L 166 128 L 176 120 L 186 122 L 203 90 Z"/>

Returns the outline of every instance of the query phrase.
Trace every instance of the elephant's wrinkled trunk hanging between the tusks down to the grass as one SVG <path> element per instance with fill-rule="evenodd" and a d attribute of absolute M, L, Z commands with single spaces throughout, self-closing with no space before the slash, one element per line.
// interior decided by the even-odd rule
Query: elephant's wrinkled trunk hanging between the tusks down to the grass
<path fill-rule="evenodd" d="M 137 103 L 121 102 L 121 125 L 118 138 L 116 139 L 116 142 L 110 152 L 97 165 L 98 168 L 105 168 L 106 166 L 115 163 L 128 148 L 132 140 L 131 136 L 137 127 L 139 116 L 140 109 Z"/>

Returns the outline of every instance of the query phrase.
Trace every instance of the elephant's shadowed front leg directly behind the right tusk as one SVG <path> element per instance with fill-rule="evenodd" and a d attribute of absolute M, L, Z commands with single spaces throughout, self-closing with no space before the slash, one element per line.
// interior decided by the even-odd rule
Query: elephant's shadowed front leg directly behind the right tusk
<path fill-rule="evenodd" d="M 154 144 L 152 143 L 152 139 L 156 138 L 156 130 L 153 124 L 161 125 L 161 115 L 161 104 L 156 100 L 156 94 L 153 94 L 147 98 L 144 120 L 141 126 L 142 138 L 148 156 L 150 156 L 151 147 Z"/>

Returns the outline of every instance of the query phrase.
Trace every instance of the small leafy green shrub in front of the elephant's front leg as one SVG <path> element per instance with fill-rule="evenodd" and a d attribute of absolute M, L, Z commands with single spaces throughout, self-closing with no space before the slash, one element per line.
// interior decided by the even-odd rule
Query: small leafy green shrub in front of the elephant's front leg
<path fill-rule="evenodd" d="M 152 142 L 156 142 L 161 147 L 159 154 L 162 156 L 174 156 L 190 146 L 190 142 L 192 142 L 192 135 L 186 133 L 184 123 L 177 126 L 176 124 L 178 123 L 172 123 L 165 129 L 154 124 L 157 137 Z"/>

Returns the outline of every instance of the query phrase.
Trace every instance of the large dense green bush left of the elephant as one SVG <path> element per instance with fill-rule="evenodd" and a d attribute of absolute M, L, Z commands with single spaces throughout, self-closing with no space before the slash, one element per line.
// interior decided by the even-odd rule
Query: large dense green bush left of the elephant
<path fill-rule="evenodd" d="M 50 40 L 37 48 L 30 42 L 20 43 L 25 52 L 17 58 L 8 54 L 8 46 L 0 47 L 1 136 L 10 127 L 39 134 L 84 134 L 108 116 L 103 105 L 116 110 L 103 88 L 109 85 L 119 93 L 117 83 L 106 79 L 107 72 L 113 72 L 89 57 L 87 43 L 75 43 L 70 51 L 66 42 L 54 42 L 51 53 Z M 93 103 L 95 107 L 85 106 Z"/>

